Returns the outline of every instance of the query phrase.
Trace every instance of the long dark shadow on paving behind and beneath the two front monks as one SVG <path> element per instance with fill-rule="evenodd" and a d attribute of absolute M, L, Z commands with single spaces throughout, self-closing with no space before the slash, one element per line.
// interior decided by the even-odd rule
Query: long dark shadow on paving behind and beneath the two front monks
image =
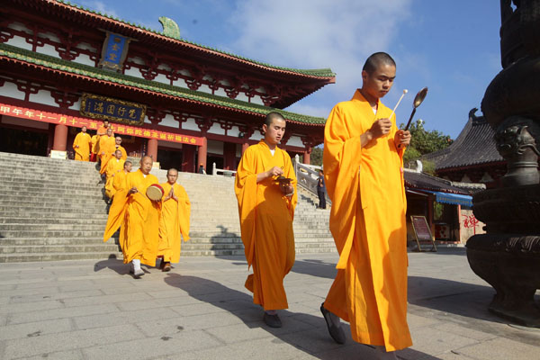
<path fill-rule="evenodd" d="M 262 329 L 273 335 L 276 339 L 289 344 L 307 355 L 318 359 L 339 360 L 339 359 L 375 359 L 374 350 L 361 344 L 355 343 L 350 338 L 350 329 L 344 323 L 344 330 L 347 334 L 347 344 L 338 345 L 330 337 L 326 323 L 322 315 L 315 316 L 306 313 L 294 313 L 291 311 L 279 311 L 284 327 L 272 329 L 263 322 L 263 310 L 253 303 L 253 298 L 247 293 L 242 293 L 230 289 L 220 283 L 196 276 L 184 276 L 174 273 L 167 274 L 166 284 L 182 289 L 189 296 L 201 302 L 209 303 L 230 314 L 238 317 L 246 325 L 249 331 L 259 331 Z M 219 328 L 219 324 L 215 326 Z M 238 338 L 239 337 L 239 338 Z M 260 338 L 260 337 L 259 337 Z M 234 341 L 246 341 L 254 339 L 249 334 L 242 336 L 242 332 L 235 335 Z M 257 339 L 257 337 L 255 337 Z M 413 354 L 414 353 L 414 354 Z M 410 356 L 413 354 L 414 356 Z M 399 353 L 398 353 L 399 356 Z M 416 357 L 415 357 L 416 356 Z M 437 360 L 437 357 L 427 356 L 415 350 L 408 350 L 404 358 L 419 358 L 426 360 Z M 279 358 L 276 354 L 275 358 Z"/>

